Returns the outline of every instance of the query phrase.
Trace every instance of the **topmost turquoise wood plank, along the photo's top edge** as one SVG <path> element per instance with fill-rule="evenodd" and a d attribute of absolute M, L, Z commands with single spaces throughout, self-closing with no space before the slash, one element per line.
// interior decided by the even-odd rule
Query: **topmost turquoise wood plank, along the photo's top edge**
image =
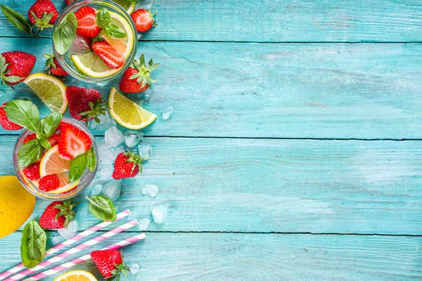
<path fill-rule="evenodd" d="M 1 1 L 25 16 L 33 2 Z M 151 6 L 151 2 L 151 11 L 158 11 L 158 26 L 143 34 L 142 39 L 146 40 L 422 41 L 422 4 L 418 0 L 140 0 L 137 6 Z M 59 12 L 65 6 L 64 0 L 53 3 Z M 0 26 L 1 36 L 25 35 L 3 15 Z"/>

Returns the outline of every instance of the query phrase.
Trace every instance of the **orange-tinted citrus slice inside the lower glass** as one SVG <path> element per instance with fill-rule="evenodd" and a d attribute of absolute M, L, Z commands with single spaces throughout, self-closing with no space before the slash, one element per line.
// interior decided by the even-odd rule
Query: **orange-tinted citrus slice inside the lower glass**
<path fill-rule="evenodd" d="M 39 163 L 39 175 L 42 177 L 69 171 L 69 166 L 70 161 L 60 157 L 58 154 L 58 145 L 54 145 L 53 148 L 48 150 L 41 158 L 41 162 Z"/>

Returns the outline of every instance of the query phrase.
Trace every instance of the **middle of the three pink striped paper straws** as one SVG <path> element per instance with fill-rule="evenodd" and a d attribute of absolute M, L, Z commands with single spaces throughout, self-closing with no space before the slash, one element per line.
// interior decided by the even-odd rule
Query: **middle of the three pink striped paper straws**
<path fill-rule="evenodd" d="M 68 256 L 72 256 L 72 254 L 76 254 L 78 251 L 82 251 L 83 249 L 87 249 L 88 247 L 97 244 L 98 242 L 101 242 L 103 240 L 106 240 L 108 237 L 112 237 L 116 235 L 117 233 L 121 233 L 124 230 L 127 230 L 129 228 L 132 228 L 138 224 L 138 221 L 136 219 L 129 221 L 129 223 L 124 223 L 122 226 L 117 226 L 117 228 L 110 230 L 106 233 L 103 233 L 101 235 L 98 235 L 97 237 L 92 238 L 91 240 L 88 240 L 87 242 L 83 242 L 82 244 L 77 245 L 76 247 L 73 247 L 72 249 L 68 249 L 68 251 L 63 251 L 63 253 L 58 254 L 57 256 L 53 256 L 50 259 L 47 259 L 46 261 L 42 261 L 34 268 L 28 268 L 27 270 L 24 270 L 21 273 L 18 273 L 16 275 L 13 275 L 12 277 L 9 277 L 6 279 L 6 281 L 10 280 L 20 280 L 21 278 L 28 276 L 32 273 L 37 272 L 40 269 L 46 268 L 48 266 L 51 266 L 53 263 L 56 263 L 58 261 L 61 261 L 62 259 L 67 258 Z"/>

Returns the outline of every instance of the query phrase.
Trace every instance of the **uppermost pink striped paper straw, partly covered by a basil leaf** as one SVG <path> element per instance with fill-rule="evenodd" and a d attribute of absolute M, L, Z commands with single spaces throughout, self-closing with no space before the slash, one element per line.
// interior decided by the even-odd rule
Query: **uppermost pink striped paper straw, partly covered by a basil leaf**
<path fill-rule="evenodd" d="M 117 217 L 115 221 L 103 221 L 101 223 L 98 223 L 96 226 L 93 226 L 91 228 L 88 228 L 87 230 L 83 231 L 82 233 L 79 233 L 73 237 L 70 237 L 68 240 L 65 240 L 59 244 L 57 244 L 54 247 L 51 247 L 46 251 L 46 256 L 51 256 L 52 254 L 56 253 L 57 251 L 60 251 L 60 249 L 63 249 L 65 247 L 70 246 L 71 244 L 82 240 L 84 237 L 87 237 L 91 235 L 92 233 L 96 233 L 98 230 L 101 230 L 102 228 L 105 228 L 106 226 L 110 226 L 110 224 L 115 223 L 116 221 L 119 221 L 121 218 L 124 218 L 125 216 L 128 216 L 130 214 L 129 209 L 126 209 L 122 211 L 121 213 L 117 214 Z M 21 270 L 24 270 L 25 266 L 23 263 L 18 264 L 18 266 L 15 266 L 9 270 L 4 271 L 3 273 L 0 273 L 0 280 L 4 280 L 4 278 L 9 277 L 15 273 L 18 273 Z"/>

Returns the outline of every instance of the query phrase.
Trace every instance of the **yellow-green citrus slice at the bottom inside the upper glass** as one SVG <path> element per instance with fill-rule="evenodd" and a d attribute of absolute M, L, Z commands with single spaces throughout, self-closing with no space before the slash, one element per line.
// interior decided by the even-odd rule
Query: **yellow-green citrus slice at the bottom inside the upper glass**
<path fill-rule="evenodd" d="M 107 77 L 120 70 L 120 68 L 115 70 L 108 67 L 94 52 L 72 55 L 71 58 L 76 67 L 89 77 Z"/>

